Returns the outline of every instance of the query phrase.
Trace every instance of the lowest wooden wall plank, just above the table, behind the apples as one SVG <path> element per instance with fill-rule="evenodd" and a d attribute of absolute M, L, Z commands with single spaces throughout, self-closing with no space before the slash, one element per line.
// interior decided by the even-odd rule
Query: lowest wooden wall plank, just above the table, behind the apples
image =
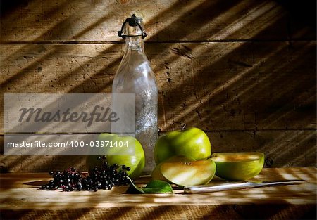
<path fill-rule="evenodd" d="M 213 152 L 263 152 L 266 167 L 317 166 L 316 131 L 208 131 L 207 135 Z M 1 172 L 46 172 L 67 167 L 86 170 L 85 156 L 0 157 Z"/>

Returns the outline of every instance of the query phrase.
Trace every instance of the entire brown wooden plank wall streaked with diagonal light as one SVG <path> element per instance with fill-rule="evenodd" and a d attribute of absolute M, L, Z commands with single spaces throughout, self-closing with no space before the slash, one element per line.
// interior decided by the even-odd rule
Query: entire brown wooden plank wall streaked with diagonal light
<path fill-rule="evenodd" d="M 132 13 L 149 34 L 163 133 L 186 123 L 213 151 L 316 167 L 316 1 L 2 1 L 1 93 L 110 93 Z M 85 169 L 83 157 L 1 155 L 0 166 Z"/>

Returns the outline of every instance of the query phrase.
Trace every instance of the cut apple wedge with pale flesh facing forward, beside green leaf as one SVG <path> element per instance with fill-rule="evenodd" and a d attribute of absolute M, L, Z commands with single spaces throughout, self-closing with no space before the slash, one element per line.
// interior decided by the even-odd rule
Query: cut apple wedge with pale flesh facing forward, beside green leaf
<path fill-rule="evenodd" d="M 216 172 L 216 164 L 211 160 L 192 162 L 163 162 L 161 174 L 178 186 L 194 186 L 209 183 Z"/>

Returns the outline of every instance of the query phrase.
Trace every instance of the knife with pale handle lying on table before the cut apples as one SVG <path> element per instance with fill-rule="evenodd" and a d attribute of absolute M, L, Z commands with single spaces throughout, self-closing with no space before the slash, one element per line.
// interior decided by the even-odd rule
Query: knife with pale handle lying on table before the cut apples
<path fill-rule="evenodd" d="M 244 182 L 226 182 L 226 183 L 209 183 L 208 185 L 185 186 L 185 193 L 212 193 L 223 190 L 237 190 L 243 188 L 256 188 L 263 186 L 281 186 L 303 183 L 303 179 L 290 179 L 280 181 L 244 181 Z"/>

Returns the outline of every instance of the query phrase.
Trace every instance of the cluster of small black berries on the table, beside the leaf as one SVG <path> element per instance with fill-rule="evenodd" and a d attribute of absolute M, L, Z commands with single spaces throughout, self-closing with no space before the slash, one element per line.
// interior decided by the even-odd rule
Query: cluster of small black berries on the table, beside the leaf
<path fill-rule="evenodd" d="M 102 165 L 94 167 L 90 176 L 83 176 L 73 167 L 64 170 L 64 172 L 49 172 L 54 179 L 41 186 L 40 189 L 97 191 L 99 189 L 111 190 L 113 186 L 125 186 L 130 183 L 127 174 L 127 171 L 131 169 L 130 167 L 118 164 L 109 166 L 105 156 L 99 156 L 98 160 L 103 160 Z"/>

